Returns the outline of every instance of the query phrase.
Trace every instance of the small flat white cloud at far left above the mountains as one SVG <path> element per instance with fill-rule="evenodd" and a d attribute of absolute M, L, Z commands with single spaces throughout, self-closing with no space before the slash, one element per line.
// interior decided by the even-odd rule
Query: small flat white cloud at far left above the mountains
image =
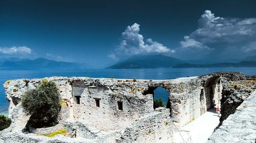
<path fill-rule="evenodd" d="M 2 54 L 30 54 L 32 50 L 26 46 L 20 47 L 0 47 L 0 53 Z"/>

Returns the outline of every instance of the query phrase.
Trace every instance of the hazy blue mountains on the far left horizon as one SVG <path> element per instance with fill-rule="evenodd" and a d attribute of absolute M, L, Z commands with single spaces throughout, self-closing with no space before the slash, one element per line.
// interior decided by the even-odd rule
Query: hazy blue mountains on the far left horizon
<path fill-rule="evenodd" d="M 82 65 L 83 66 L 83 65 Z M 84 66 L 83 66 L 84 67 Z M 22 61 L 5 61 L 0 65 L 5 70 L 61 70 L 82 69 L 78 63 L 56 62 L 44 58 Z"/>

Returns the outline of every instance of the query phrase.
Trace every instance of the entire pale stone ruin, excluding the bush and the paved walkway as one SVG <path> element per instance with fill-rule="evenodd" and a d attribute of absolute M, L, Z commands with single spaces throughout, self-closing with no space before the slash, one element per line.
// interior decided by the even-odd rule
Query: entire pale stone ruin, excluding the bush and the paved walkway
<path fill-rule="evenodd" d="M 222 117 L 216 129 L 220 130 L 223 121 L 256 88 L 256 76 L 237 72 L 170 80 L 46 79 L 57 84 L 61 100 L 66 102 L 60 109 L 59 124 L 41 129 L 28 127 L 30 117 L 19 101 L 22 94 L 37 87 L 42 79 L 11 80 L 4 87 L 12 123 L 0 132 L 0 142 L 173 142 L 173 132 L 211 109 L 213 100 L 221 105 Z M 154 90 L 158 87 L 169 93 L 166 108 L 155 106 Z M 68 132 L 76 129 L 77 138 L 38 135 L 58 129 Z M 214 142 L 214 138 L 209 139 Z"/>

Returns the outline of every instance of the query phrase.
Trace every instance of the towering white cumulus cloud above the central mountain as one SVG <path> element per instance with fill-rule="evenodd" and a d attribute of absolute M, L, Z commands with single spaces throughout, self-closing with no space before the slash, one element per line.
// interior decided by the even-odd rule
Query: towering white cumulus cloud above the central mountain
<path fill-rule="evenodd" d="M 113 60 L 119 60 L 120 55 L 135 55 L 135 54 L 149 54 L 149 53 L 173 53 L 171 50 L 157 41 L 147 39 L 143 41 L 143 36 L 139 34 L 140 25 L 134 23 L 132 26 L 127 26 L 122 33 L 122 41 L 115 51 L 108 55 Z"/>

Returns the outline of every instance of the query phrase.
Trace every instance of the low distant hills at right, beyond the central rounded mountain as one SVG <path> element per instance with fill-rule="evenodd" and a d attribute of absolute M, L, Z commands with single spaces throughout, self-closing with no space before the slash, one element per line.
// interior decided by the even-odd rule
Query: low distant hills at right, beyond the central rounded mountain
<path fill-rule="evenodd" d="M 256 61 L 242 61 L 240 63 L 216 63 L 216 64 L 177 64 L 173 68 L 219 68 L 219 67 L 256 67 Z"/>

